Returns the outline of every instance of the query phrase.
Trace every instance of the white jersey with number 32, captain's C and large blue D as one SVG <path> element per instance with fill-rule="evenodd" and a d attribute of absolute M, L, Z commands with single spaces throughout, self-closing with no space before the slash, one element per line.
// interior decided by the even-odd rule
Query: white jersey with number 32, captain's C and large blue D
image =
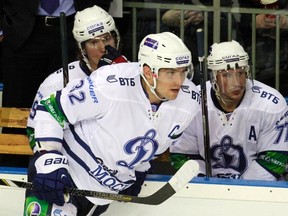
<path fill-rule="evenodd" d="M 45 103 L 54 118 L 38 106 L 36 140 L 58 141 L 55 148 L 68 157 L 78 188 L 117 193 L 133 183 L 135 170 L 147 170 L 148 162 L 180 137 L 200 110 L 200 95 L 186 79 L 177 98 L 153 112 L 139 64 L 121 63 L 69 82 L 55 101 L 50 97 Z"/>

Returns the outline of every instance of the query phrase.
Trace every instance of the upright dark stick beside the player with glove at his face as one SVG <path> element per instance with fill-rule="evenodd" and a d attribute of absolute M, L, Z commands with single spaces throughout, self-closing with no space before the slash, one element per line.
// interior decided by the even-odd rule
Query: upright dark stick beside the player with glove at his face
<path fill-rule="evenodd" d="M 66 26 L 66 14 L 60 13 L 60 34 L 61 34 L 61 53 L 62 53 L 62 68 L 63 68 L 63 86 L 69 82 L 68 73 L 68 45 L 67 45 L 67 26 Z"/>

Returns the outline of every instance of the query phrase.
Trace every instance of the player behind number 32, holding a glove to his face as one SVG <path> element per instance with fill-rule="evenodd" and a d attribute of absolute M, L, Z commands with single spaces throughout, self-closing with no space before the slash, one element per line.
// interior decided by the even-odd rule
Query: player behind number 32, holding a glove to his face
<path fill-rule="evenodd" d="M 68 65 L 69 80 L 89 76 L 98 67 L 126 62 L 127 59 L 117 49 L 120 34 L 115 22 L 101 7 L 93 6 L 79 11 L 75 15 L 73 35 L 78 43 L 80 60 Z M 36 107 L 43 97 L 62 89 L 63 70 L 59 69 L 47 77 L 40 85 L 27 124 L 27 133 L 31 148 L 34 149 L 34 115 Z"/>

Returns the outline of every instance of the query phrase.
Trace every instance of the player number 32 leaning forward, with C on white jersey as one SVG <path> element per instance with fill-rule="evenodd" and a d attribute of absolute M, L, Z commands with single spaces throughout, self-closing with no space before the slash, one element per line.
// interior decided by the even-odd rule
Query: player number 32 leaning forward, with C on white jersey
<path fill-rule="evenodd" d="M 148 35 L 138 59 L 101 67 L 38 105 L 34 204 L 45 200 L 64 215 L 86 215 L 89 203 L 107 206 L 111 201 L 88 197 L 65 202 L 63 188 L 123 191 L 189 125 L 200 98 L 186 78 L 193 67 L 184 43 L 169 32 Z"/>

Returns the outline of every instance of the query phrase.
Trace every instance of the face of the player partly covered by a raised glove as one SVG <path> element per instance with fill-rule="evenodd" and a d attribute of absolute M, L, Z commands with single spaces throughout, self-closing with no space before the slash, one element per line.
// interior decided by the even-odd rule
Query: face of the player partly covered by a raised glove
<path fill-rule="evenodd" d="M 115 38 L 110 33 L 105 33 L 85 42 L 84 48 L 93 69 L 97 69 L 98 62 L 106 54 L 105 46 L 107 45 L 116 48 Z"/>

